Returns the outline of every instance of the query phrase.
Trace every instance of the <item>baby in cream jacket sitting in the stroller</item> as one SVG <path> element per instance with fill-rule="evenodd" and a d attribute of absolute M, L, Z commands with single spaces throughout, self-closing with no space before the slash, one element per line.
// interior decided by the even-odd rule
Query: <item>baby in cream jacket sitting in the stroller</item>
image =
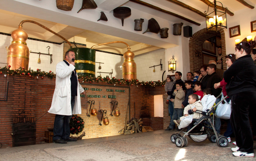
<path fill-rule="evenodd" d="M 181 120 L 184 119 L 186 116 L 190 115 L 188 113 L 188 111 L 192 111 L 194 114 L 193 115 L 193 119 L 200 119 L 200 117 L 202 116 L 199 113 L 195 113 L 196 110 L 202 111 L 203 110 L 203 106 L 201 105 L 201 101 L 198 98 L 198 95 L 196 94 L 191 94 L 188 96 L 188 102 L 189 105 L 187 105 L 184 109 L 184 116 L 180 117 L 179 120 L 174 120 L 173 122 L 177 125 L 179 125 L 181 123 Z"/>

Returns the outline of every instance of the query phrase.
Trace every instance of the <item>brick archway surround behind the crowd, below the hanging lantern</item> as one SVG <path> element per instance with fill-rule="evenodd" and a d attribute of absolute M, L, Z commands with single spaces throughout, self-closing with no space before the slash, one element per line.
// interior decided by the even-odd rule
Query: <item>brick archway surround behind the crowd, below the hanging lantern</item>
<path fill-rule="evenodd" d="M 221 47 L 222 47 L 222 60 L 223 60 L 223 69 L 226 70 L 226 42 L 225 42 L 225 32 L 223 30 L 220 31 L 221 34 Z M 203 57 L 195 56 L 195 50 L 202 51 L 202 45 L 205 40 L 216 36 L 215 31 L 207 31 L 206 28 L 199 30 L 194 33 L 192 37 L 189 39 L 189 63 L 190 63 L 190 71 L 194 72 L 199 70 L 199 68 L 203 65 Z"/>

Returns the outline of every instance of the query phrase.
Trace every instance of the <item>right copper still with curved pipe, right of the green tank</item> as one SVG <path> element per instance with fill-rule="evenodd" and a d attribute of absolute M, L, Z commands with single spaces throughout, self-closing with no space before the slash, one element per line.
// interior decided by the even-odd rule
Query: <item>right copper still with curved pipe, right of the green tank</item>
<path fill-rule="evenodd" d="M 137 79 L 137 67 L 136 67 L 136 63 L 134 62 L 133 58 L 134 58 L 134 53 L 131 52 L 131 48 L 130 46 L 123 42 L 123 41 L 113 41 L 113 42 L 107 42 L 107 43 L 101 43 L 101 44 L 97 44 L 91 47 L 91 49 L 93 49 L 96 46 L 100 46 L 100 45 L 107 45 L 110 43 L 124 43 L 125 45 L 127 45 L 127 51 L 123 54 L 123 58 L 125 60 L 123 60 L 123 64 L 122 64 L 122 76 L 124 79 Z"/>

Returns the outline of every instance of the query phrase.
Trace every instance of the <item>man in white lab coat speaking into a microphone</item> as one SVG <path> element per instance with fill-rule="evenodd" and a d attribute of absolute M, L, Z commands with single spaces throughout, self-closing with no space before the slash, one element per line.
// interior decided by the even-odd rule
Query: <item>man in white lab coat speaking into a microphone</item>
<path fill-rule="evenodd" d="M 85 91 L 78 82 L 74 60 L 75 52 L 69 50 L 65 54 L 65 60 L 56 65 L 55 91 L 48 111 L 56 114 L 52 138 L 54 143 L 77 141 L 70 138 L 69 121 L 72 114 L 81 114 L 80 93 L 85 95 Z"/>

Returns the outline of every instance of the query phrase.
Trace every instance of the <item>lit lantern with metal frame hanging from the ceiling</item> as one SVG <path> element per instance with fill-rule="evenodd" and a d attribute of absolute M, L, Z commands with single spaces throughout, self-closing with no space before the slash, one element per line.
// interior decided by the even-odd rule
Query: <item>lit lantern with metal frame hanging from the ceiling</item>
<path fill-rule="evenodd" d="M 220 3 L 222 6 L 222 9 L 224 11 L 217 10 L 216 3 Z M 209 6 L 214 4 L 213 12 L 209 12 Z M 214 0 L 211 4 L 208 5 L 208 10 L 207 12 L 204 11 L 205 13 L 205 20 L 206 20 L 206 26 L 207 26 L 207 31 L 212 30 L 212 31 L 220 31 L 224 28 L 227 28 L 227 16 L 226 16 L 226 10 L 227 8 L 224 8 L 221 2 L 217 2 Z M 209 21 L 208 21 L 208 20 Z"/>

